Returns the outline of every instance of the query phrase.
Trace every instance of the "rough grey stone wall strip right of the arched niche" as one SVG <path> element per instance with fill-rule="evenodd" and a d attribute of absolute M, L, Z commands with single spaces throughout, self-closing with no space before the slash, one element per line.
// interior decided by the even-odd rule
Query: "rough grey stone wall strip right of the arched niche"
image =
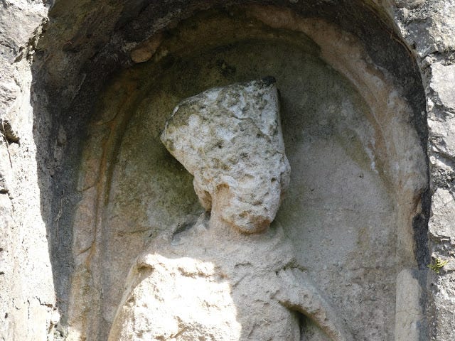
<path fill-rule="evenodd" d="M 430 337 L 455 336 L 455 1 L 400 1 L 391 12 L 402 37 L 417 54 L 427 95 L 432 193 L 429 251 L 449 261 L 441 274 L 429 271 L 427 288 Z M 415 2 L 415 4 L 414 4 Z"/>

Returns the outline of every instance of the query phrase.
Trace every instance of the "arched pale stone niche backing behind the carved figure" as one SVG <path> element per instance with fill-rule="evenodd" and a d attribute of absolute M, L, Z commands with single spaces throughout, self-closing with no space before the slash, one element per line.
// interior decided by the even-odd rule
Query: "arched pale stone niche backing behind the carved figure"
<path fill-rule="evenodd" d="M 397 73 L 375 64 L 383 46 L 376 48 L 333 23 L 271 6 L 203 11 L 137 46 L 136 64 L 109 80 L 87 127 L 82 199 L 73 221 L 68 340 L 107 340 L 125 292 L 134 290 L 128 278 L 137 257 L 151 245 L 164 257 L 169 237 L 193 227 L 204 212 L 192 176 L 160 141 L 173 108 L 212 87 L 266 76 L 277 81 L 291 178 L 263 233 L 282 231 L 294 266 L 351 340 L 422 340 L 424 270 L 413 230 L 428 183 L 424 134 L 415 126 L 422 112 L 405 96 Z M 223 248 L 223 240 L 213 242 Z M 220 266 L 210 257 L 196 259 L 198 251 L 168 266 Z M 252 278 L 259 271 L 240 258 L 225 262 L 237 262 L 230 265 Z M 225 298 L 215 308 L 239 328 L 237 338 L 220 340 L 267 340 L 255 336 L 267 321 L 242 326 L 235 319 L 242 302 L 230 297 L 233 283 L 214 278 L 205 285 L 223 288 Z M 178 277 L 168 280 L 180 296 L 195 290 Z M 296 340 L 344 340 L 289 310 L 299 325 Z M 192 340 L 184 335 L 168 340 Z"/>

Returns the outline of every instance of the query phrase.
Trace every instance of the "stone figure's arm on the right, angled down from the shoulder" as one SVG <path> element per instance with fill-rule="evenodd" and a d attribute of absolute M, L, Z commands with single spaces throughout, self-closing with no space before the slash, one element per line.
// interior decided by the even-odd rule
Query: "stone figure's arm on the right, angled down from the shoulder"
<path fill-rule="evenodd" d="M 341 319 L 324 300 L 321 293 L 299 269 L 279 271 L 282 288 L 277 300 L 290 310 L 296 310 L 314 321 L 333 341 L 351 341 L 353 337 L 344 328 Z"/>

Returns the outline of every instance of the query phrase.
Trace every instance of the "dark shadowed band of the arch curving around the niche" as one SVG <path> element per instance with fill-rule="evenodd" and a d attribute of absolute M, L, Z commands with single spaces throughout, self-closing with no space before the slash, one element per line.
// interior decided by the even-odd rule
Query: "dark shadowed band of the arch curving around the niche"
<path fill-rule="evenodd" d="M 74 213 L 82 197 L 82 189 L 78 188 L 81 155 L 90 137 L 87 124 L 97 114 L 99 95 L 109 85 L 114 73 L 131 66 L 129 55 L 124 52 L 127 43 L 149 36 L 151 31 L 159 28 L 157 23 L 168 13 L 178 13 L 174 18 L 176 21 L 177 16 L 184 18 L 198 8 L 221 3 L 187 1 L 181 4 L 180 1 L 169 1 L 161 5 L 159 11 L 156 4 L 138 5 L 133 7 L 141 11 L 134 12 L 132 16 L 128 14 L 123 1 L 112 5 L 112 12 L 100 6 L 87 5 L 65 14 L 66 10 L 73 9 L 70 2 L 58 1 L 50 11 L 51 20 L 44 26 L 43 36 L 33 56 L 31 89 L 41 210 L 48 229 L 53 279 L 63 326 L 68 318 L 70 279 L 74 270 Z M 270 1 L 262 2 L 269 4 Z M 358 36 L 365 50 L 375 58 L 375 64 L 388 70 L 395 77 L 397 85 L 402 87 L 415 113 L 413 124 L 422 148 L 425 148 L 427 125 L 424 115 L 420 114 L 424 112 L 424 93 L 417 66 L 408 51 L 397 43 L 398 39 L 390 39 L 391 30 L 385 27 L 379 16 L 362 1 L 332 1 L 331 4 L 322 5 L 319 1 L 299 1 L 297 4 L 274 1 L 274 4 L 289 7 L 304 17 L 324 18 Z M 90 15 L 85 21 L 78 19 L 87 13 Z M 90 18 L 95 16 L 97 21 L 91 23 Z M 115 25 L 117 18 L 121 18 L 119 25 Z M 166 23 L 171 22 L 172 18 L 168 17 Z M 65 31 L 68 29 L 70 33 Z M 172 36 L 173 31 L 169 32 Z M 117 38 L 111 39 L 112 36 Z M 396 60 L 402 60 L 403 63 L 396 63 Z M 172 65 L 171 61 L 169 65 Z M 218 67 L 220 70 L 223 82 L 237 81 L 236 77 L 232 77 L 234 66 L 223 67 L 222 62 L 214 65 L 215 69 Z M 254 73 L 251 72 L 249 77 L 263 76 L 259 75 L 260 72 L 257 75 Z M 291 121 L 284 121 L 284 124 L 289 124 L 291 129 Z M 426 232 L 429 193 L 424 192 L 422 197 L 424 209 L 422 215 L 414 219 L 414 237 L 417 244 L 416 259 L 423 269 L 428 263 Z M 93 209 L 97 210 L 97 207 Z M 102 212 L 102 207 L 98 209 L 98 212 Z M 423 282 L 421 285 L 424 288 Z M 64 328 L 62 332 L 65 333 Z"/>

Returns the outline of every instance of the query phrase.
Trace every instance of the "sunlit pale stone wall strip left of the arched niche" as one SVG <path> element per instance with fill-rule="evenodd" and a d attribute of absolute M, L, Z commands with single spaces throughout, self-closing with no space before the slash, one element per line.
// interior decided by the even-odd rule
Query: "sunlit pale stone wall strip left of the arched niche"
<path fill-rule="evenodd" d="M 60 319 L 45 225 L 48 212 L 41 205 L 44 179 L 37 169 L 30 91 L 31 45 L 47 11 L 42 1 L 0 2 L 0 340 L 4 341 L 53 340 Z"/>

